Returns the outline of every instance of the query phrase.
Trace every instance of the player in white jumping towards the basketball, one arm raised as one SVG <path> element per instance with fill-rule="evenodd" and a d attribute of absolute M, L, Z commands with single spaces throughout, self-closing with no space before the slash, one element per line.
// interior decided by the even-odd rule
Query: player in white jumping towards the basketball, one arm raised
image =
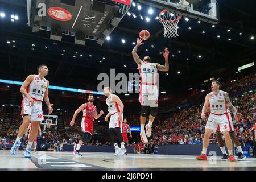
<path fill-rule="evenodd" d="M 134 47 L 133 51 L 133 59 L 137 63 L 139 68 L 139 74 L 141 75 L 141 86 L 139 93 L 139 102 L 141 103 L 141 140 L 143 143 L 148 143 L 147 137 L 151 136 L 151 127 L 152 123 L 158 113 L 158 70 L 168 72 L 169 71 L 169 62 L 168 56 L 169 51 L 165 49 L 163 52 L 165 64 L 160 65 L 158 63 L 151 63 L 150 57 L 145 56 L 143 60 L 139 58 L 137 55 L 138 47 L 141 46 L 143 39 L 137 39 L 137 44 Z M 145 133 L 145 123 L 146 123 L 146 115 L 147 109 L 150 106 L 150 115 L 149 121 L 146 125 L 146 133 Z"/>

